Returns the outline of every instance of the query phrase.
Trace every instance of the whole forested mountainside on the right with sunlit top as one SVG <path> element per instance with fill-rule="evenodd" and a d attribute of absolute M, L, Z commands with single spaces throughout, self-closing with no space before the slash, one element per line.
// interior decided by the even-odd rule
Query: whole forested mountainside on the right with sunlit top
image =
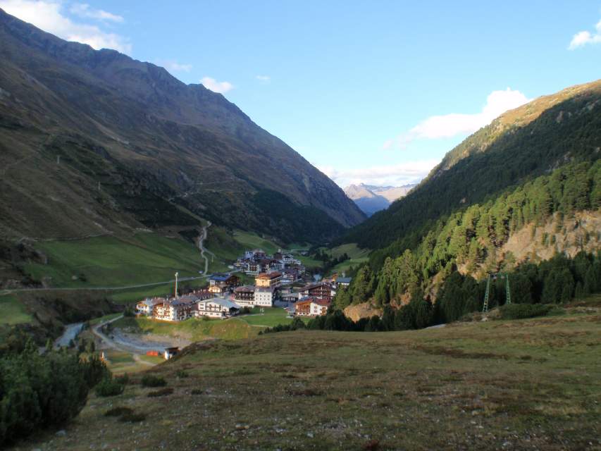
<path fill-rule="evenodd" d="M 490 305 L 568 302 L 601 292 L 599 230 L 601 80 L 507 111 L 351 230 L 374 250 L 335 302 L 410 303 L 398 326 L 424 327 L 482 311 L 498 273 Z"/>

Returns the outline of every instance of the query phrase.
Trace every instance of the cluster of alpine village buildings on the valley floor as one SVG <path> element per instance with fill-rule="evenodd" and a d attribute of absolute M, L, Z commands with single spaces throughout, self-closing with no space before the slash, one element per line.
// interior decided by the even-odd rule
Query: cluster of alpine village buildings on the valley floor
<path fill-rule="evenodd" d="M 147 297 L 136 304 L 136 314 L 158 321 L 185 321 L 190 318 L 228 319 L 258 307 L 281 307 L 288 316 L 325 315 L 336 291 L 348 286 L 351 278 L 333 275 L 316 280 L 299 259 L 281 250 L 268 255 L 261 249 L 244 252 L 228 273 L 209 276 L 209 286 L 169 297 Z M 254 284 L 242 283 L 245 279 Z"/>

